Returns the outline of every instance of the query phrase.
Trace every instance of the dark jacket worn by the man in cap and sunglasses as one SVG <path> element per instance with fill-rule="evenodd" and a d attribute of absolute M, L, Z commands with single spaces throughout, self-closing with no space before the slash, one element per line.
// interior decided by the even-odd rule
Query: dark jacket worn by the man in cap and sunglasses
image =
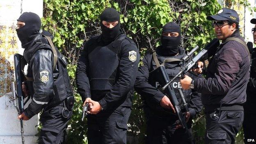
<path fill-rule="evenodd" d="M 231 37 L 241 40 L 239 30 Z M 244 41 L 244 40 L 243 40 Z M 221 43 L 210 59 L 206 79 L 194 81 L 194 89 L 202 94 L 206 108 L 213 105 L 241 105 L 246 101 L 246 87 L 249 80 L 249 58 L 245 47 L 237 41 Z"/>

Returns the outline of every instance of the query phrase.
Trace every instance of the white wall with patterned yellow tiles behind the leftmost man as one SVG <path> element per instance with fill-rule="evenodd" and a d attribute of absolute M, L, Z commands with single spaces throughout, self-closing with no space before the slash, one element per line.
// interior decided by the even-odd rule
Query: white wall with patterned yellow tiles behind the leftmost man
<path fill-rule="evenodd" d="M 10 84 L 14 81 L 14 53 L 23 53 L 16 35 L 16 23 L 23 12 L 43 16 L 43 0 L 0 0 L 0 144 L 21 144 L 21 127 L 13 106 Z M 27 106 L 27 105 L 26 105 Z M 25 144 L 38 137 L 38 116 L 23 122 Z"/>

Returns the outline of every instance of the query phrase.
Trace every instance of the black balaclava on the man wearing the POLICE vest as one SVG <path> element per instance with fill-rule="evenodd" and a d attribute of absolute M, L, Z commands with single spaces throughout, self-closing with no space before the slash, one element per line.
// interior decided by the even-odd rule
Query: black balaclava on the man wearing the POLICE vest
<path fill-rule="evenodd" d="M 165 24 L 163 32 L 178 32 L 178 37 L 164 37 L 161 35 L 161 54 L 163 56 L 174 56 L 178 53 L 178 45 L 181 42 L 181 27 L 174 22 Z"/>

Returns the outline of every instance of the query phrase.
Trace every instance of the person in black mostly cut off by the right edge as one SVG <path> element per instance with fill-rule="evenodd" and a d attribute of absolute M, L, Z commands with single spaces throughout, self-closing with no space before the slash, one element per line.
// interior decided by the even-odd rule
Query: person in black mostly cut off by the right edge
<path fill-rule="evenodd" d="M 256 18 L 251 19 L 252 24 L 256 24 Z M 254 38 L 254 44 L 256 44 L 256 25 L 252 28 L 252 34 Z M 252 47 L 251 47 L 252 48 Z M 243 122 L 243 130 L 245 134 L 245 144 L 253 144 L 256 142 L 256 112 L 255 112 L 255 104 L 256 104 L 256 49 L 253 48 L 251 51 L 251 71 L 250 71 L 250 80 L 247 85 L 247 98 L 244 106 L 245 109 L 245 119 Z"/>

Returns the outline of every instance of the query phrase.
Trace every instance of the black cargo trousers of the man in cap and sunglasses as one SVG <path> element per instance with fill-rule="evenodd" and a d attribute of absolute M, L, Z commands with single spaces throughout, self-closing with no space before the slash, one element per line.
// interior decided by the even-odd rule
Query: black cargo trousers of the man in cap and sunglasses
<path fill-rule="evenodd" d="M 205 144 L 235 144 L 235 136 L 244 120 L 244 111 L 215 110 L 205 114 Z"/>

